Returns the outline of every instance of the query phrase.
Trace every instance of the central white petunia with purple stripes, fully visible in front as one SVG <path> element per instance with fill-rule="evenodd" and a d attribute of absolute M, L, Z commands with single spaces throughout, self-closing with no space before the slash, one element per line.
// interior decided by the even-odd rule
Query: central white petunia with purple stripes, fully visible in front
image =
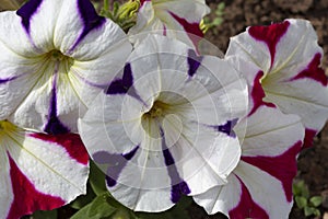
<path fill-rule="evenodd" d="M 137 211 L 222 185 L 239 160 L 232 127 L 247 108 L 245 80 L 227 62 L 150 35 L 99 94 L 79 131 L 110 194 Z"/>

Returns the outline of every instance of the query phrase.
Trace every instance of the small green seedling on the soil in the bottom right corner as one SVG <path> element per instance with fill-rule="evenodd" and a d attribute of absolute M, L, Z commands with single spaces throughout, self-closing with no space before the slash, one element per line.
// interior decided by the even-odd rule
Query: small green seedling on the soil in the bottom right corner
<path fill-rule="evenodd" d="M 309 196 L 308 187 L 304 181 L 298 181 L 293 184 L 294 199 L 300 209 L 303 209 L 304 215 L 319 217 L 321 215 L 318 207 L 323 203 L 321 196 Z"/>

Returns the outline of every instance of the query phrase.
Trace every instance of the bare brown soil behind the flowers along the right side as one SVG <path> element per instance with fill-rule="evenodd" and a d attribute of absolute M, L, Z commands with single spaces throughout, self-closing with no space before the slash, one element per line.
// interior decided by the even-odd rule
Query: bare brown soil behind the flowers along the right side
<path fill-rule="evenodd" d="M 212 11 L 216 9 L 218 3 L 225 3 L 223 23 L 206 35 L 206 38 L 223 53 L 230 37 L 244 32 L 247 26 L 269 25 L 290 18 L 309 20 L 318 34 L 318 43 L 324 48 L 323 68 L 328 76 L 328 0 L 208 0 L 207 2 Z M 214 14 L 211 13 L 210 16 L 213 18 Z M 325 212 L 328 214 L 328 124 L 315 138 L 314 147 L 303 150 L 298 155 L 298 174 L 295 181 L 300 180 L 304 180 L 311 196 L 321 195 L 325 198 L 319 210 L 323 216 Z M 226 218 L 221 214 L 207 216 L 196 204 L 189 208 L 189 214 L 192 219 Z M 305 218 L 303 211 L 294 205 L 290 219 Z M 308 218 L 314 217 L 306 219 Z"/>

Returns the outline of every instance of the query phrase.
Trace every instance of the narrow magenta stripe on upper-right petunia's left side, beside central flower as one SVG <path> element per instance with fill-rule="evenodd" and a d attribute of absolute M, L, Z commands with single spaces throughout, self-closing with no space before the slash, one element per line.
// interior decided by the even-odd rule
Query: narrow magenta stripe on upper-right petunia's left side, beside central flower
<path fill-rule="evenodd" d="M 253 100 L 253 108 L 249 112 L 248 116 L 250 116 L 251 114 L 254 114 L 261 105 L 266 105 L 269 107 L 276 107 L 276 105 L 273 103 L 267 103 L 263 101 L 263 97 L 266 96 L 266 93 L 263 91 L 263 88 L 260 83 L 260 79 L 262 78 L 263 72 L 259 71 L 257 73 L 257 76 L 254 79 L 254 84 L 253 84 L 253 89 L 250 92 L 250 96 Z"/>

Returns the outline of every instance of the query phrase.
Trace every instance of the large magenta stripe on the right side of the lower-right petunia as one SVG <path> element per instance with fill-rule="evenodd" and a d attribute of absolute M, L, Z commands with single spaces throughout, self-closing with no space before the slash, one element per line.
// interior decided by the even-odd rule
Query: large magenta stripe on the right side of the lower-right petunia
<path fill-rule="evenodd" d="M 292 201 L 292 183 L 297 173 L 296 155 L 301 151 L 301 148 L 302 141 L 297 141 L 293 147 L 278 157 L 242 157 L 242 160 L 279 180 L 284 188 L 286 200 Z"/>

